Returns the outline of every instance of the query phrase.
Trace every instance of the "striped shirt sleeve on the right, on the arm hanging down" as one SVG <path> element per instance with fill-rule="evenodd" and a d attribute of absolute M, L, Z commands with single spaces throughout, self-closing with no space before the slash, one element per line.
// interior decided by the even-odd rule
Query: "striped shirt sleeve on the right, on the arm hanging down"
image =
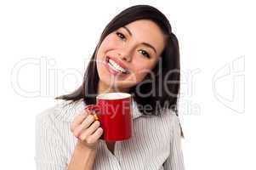
<path fill-rule="evenodd" d="M 170 156 L 163 164 L 164 170 L 185 170 L 180 131 L 179 117 L 174 116 Z"/>

